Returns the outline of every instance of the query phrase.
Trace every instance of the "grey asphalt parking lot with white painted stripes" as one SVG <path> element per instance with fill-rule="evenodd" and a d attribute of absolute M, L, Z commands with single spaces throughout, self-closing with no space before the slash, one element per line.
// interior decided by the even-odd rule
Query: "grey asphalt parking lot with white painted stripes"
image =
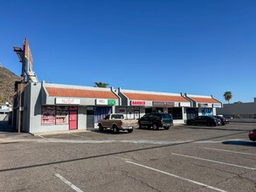
<path fill-rule="evenodd" d="M 256 191 L 256 124 L 0 133 L 1 191 Z"/>

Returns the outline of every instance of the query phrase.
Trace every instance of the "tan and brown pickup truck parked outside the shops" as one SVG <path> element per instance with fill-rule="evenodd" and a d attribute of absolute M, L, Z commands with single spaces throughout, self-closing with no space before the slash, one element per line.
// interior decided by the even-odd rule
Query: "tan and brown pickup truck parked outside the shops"
<path fill-rule="evenodd" d="M 117 134 L 120 130 L 127 130 L 128 133 L 132 133 L 135 127 L 138 127 L 138 120 L 125 120 L 123 114 L 111 113 L 103 120 L 98 121 L 99 131 L 104 129 L 112 129 L 114 134 Z"/>

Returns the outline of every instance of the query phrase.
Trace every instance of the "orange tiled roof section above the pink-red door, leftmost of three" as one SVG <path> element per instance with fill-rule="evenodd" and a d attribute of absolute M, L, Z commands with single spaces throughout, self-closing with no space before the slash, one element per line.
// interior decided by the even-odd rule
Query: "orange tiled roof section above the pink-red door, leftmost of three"
<path fill-rule="evenodd" d="M 112 92 L 45 87 L 50 97 L 118 99 Z"/>

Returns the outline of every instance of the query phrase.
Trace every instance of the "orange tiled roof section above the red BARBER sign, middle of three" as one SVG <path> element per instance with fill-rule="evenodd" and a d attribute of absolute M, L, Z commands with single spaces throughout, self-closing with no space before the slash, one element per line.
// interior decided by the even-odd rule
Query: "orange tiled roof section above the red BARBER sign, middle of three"
<path fill-rule="evenodd" d="M 146 93 L 123 93 L 128 99 L 138 100 L 158 100 L 158 101 L 172 101 L 172 102 L 190 102 L 181 95 L 162 95 L 162 94 L 146 94 Z"/>

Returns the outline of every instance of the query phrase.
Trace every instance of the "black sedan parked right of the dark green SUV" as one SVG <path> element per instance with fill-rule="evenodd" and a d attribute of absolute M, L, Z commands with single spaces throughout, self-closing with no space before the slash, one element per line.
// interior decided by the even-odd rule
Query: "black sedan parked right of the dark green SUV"
<path fill-rule="evenodd" d="M 204 125 L 204 126 L 218 126 L 221 121 L 213 116 L 197 116 L 194 119 L 187 120 L 187 125 Z"/>

